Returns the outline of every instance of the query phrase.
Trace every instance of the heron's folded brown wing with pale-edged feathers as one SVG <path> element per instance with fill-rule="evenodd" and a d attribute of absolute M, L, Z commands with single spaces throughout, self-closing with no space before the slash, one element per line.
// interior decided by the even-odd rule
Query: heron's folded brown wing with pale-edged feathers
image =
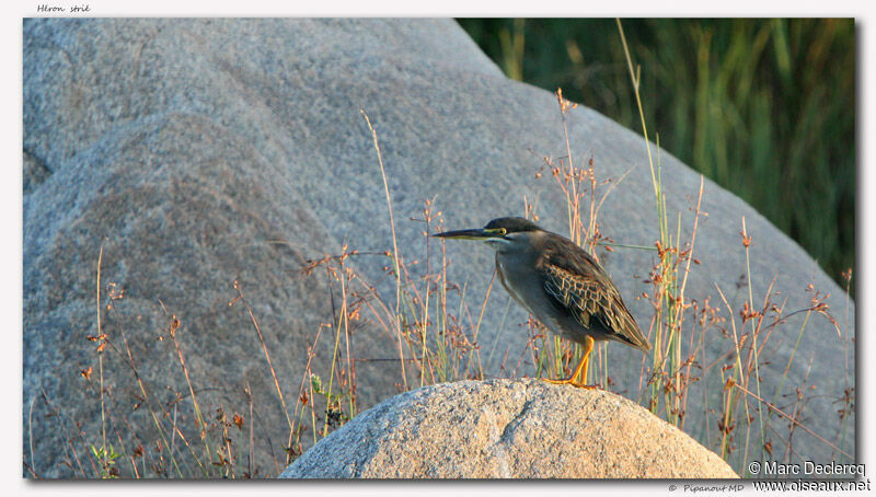
<path fill-rule="evenodd" d="M 542 266 L 544 289 L 585 328 L 602 327 L 611 338 L 650 349 L 614 284 L 595 261 L 575 247 L 579 253 L 565 248 L 563 257 L 549 254 Z"/>

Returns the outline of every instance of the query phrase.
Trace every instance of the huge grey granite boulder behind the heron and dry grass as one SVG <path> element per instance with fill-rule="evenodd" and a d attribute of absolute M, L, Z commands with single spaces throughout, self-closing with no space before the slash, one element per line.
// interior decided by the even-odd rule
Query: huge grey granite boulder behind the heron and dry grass
<path fill-rule="evenodd" d="M 142 394 L 124 359 L 123 331 L 139 378 L 154 385 L 154 405 L 169 413 L 178 407 L 181 416 L 191 408 L 185 398 L 174 402 L 188 392 L 166 339 L 175 315 L 182 323 L 175 336 L 205 412 L 246 413 L 253 405 L 261 474 L 283 469 L 277 452 L 287 439 L 286 419 L 251 317 L 240 301 L 229 302 L 238 297 L 238 280 L 293 403 L 308 347 L 335 309 L 325 275 L 301 267 L 339 254 L 344 244 L 392 250 L 383 180 L 360 109 L 380 138 L 397 244 L 408 261 L 425 253 L 423 223 L 411 218 L 422 218 L 426 199 L 448 228 L 521 215 L 526 198 L 545 228 L 567 231 L 554 178 L 535 178 L 539 155 L 566 154 L 554 95 L 506 79 L 451 20 L 28 19 L 23 37 L 24 461 L 41 476 L 92 474 L 80 459 L 88 459 L 89 446 L 100 446 L 96 344 L 87 337 L 97 335 L 101 247 L 103 303 L 108 290 L 125 290 L 112 310 L 101 311 L 102 331 L 122 351 L 106 354 L 103 365 L 105 408 L 119 423 L 108 426 L 108 438 L 130 442 L 130 451 L 131 430 L 122 426 L 129 423 L 141 427 L 143 440 L 155 439 L 143 405 L 131 411 Z M 619 243 L 653 246 L 657 215 L 642 138 L 584 106 L 567 120 L 576 160 L 592 157 L 600 181 L 616 182 L 631 171 L 601 207 L 601 231 Z M 668 153 L 661 161 L 670 224 L 680 212 L 687 239 L 700 177 Z M 842 404 L 835 404 L 854 380 L 854 304 L 797 244 L 708 181 L 702 209 L 708 216 L 701 219 L 694 254 L 701 265 L 690 274 L 688 298 L 711 296 L 712 305 L 723 308 L 717 285 L 734 309 L 729 319 L 738 321 L 749 284 L 740 281 L 745 217 L 753 239 L 754 299 L 762 300 L 774 279 L 777 301 L 791 313 L 810 304 L 812 284 L 831 294 L 827 303 L 840 321 L 841 336 L 817 314 L 796 314 L 771 328 L 760 394 L 816 434 L 773 415 L 772 453 L 837 459 L 820 438 L 854 453 L 854 417 L 841 421 Z M 492 252 L 462 244 L 447 251 L 448 278 L 480 301 Z M 654 252 L 619 248 L 601 256 L 647 332 L 650 304 L 635 296 L 649 290 L 643 279 Z M 348 264 L 392 293 L 385 259 Z M 111 282 L 115 287 L 107 288 Z M 527 316 L 507 307 L 503 290 L 493 290 L 479 343 L 486 374 L 509 374 L 500 361 L 521 357 L 527 336 L 518 324 Z M 356 357 L 379 359 L 395 347 L 395 337 L 372 323 L 359 326 Z M 726 378 L 719 368 L 734 360 L 724 356 L 733 347 L 722 328 L 730 330 L 728 322 L 702 342 L 696 368 L 704 372 L 687 403 L 685 431 L 712 450 L 719 437 L 708 408 L 721 405 Z M 324 359 L 328 347 L 322 339 L 316 357 Z M 608 351 L 612 389 L 642 398 L 642 354 L 618 345 Z M 388 363 L 357 365 L 362 408 L 397 393 L 397 368 Z M 328 374 L 325 361 L 313 367 Z M 525 362 L 518 375 L 533 371 Z M 800 402 L 796 389 L 804 383 Z M 747 437 L 744 419 L 737 425 L 734 456 L 762 454 L 765 440 Z M 789 439 L 793 450 L 785 448 Z"/>

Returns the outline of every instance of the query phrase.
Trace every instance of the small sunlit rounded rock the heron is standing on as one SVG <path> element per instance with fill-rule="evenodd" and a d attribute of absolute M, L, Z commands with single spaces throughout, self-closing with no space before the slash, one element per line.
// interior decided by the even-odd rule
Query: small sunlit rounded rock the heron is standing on
<path fill-rule="evenodd" d="M 603 390 L 462 381 L 389 398 L 281 478 L 736 478 L 717 454 Z"/>

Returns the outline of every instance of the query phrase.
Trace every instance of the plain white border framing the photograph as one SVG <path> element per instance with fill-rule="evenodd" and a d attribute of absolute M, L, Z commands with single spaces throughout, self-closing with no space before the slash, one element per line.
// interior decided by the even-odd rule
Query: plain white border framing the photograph
<path fill-rule="evenodd" d="M 650 484 L 613 484 L 611 482 L 575 482 L 575 483 L 538 483 L 525 482 L 510 484 L 508 482 L 495 483 L 427 483 L 427 482 L 397 482 L 397 483 L 260 483 L 256 485 L 222 484 L 222 483 L 181 483 L 170 482 L 161 484 L 94 484 L 94 483 L 43 483 L 33 484 L 22 478 L 21 443 L 21 365 L 22 365 L 22 193 L 21 193 L 21 147 L 22 147 L 22 18 L 37 16 L 36 5 L 50 4 L 66 7 L 70 4 L 88 3 L 91 8 L 90 16 L 854 16 L 857 20 L 857 182 L 858 211 L 857 222 L 857 257 L 855 277 L 857 287 L 857 337 L 858 346 L 858 450 L 861 460 L 867 464 L 868 476 L 876 485 L 876 461 L 873 459 L 874 429 L 866 423 L 873 418 L 874 389 L 864 390 L 872 385 L 873 370 L 865 358 L 876 357 L 874 344 L 876 339 L 868 339 L 869 324 L 874 323 L 874 307 L 872 305 L 871 291 L 874 288 L 874 276 L 869 274 L 867 248 L 874 246 L 873 213 L 876 205 L 871 192 L 876 192 L 874 174 L 869 171 L 874 163 L 873 147 L 868 143 L 872 138 L 872 119 L 874 115 L 873 99 L 868 94 L 868 86 L 873 86 L 874 68 L 874 15 L 873 2 L 857 1 L 735 1 L 703 2 L 702 0 L 683 0 L 672 2 L 670 5 L 654 1 L 612 1 L 612 2 L 551 2 L 551 1 L 474 1 L 474 0 L 445 0 L 430 4 L 414 4 L 411 1 L 369 1 L 369 2 L 279 2 L 274 0 L 246 0 L 246 1 L 195 1 L 195 0 L 150 0 L 141 2 L 131 1 L 33 1 L 12 2 L 3 5 L 2 22 L 3 43 L 0 45 L 4 69 L 3 84 L 3 113 L 2 113 L 2 140 L 3 165 L 0 194 L 2 201 L 2 228 L 9 235 L 7 243 L 0 245 L 3 251 L 3 264 L 0 265 L 0 280 L 4 285 L 2 315 L 5 317 L 7 343 L 3 347 L 2 363 L 4 365 L 4 379 L 2 396 L 7 400 L 3 411 L 2 447 L 2 483 L 13 495 L 21 493 L 34 495 L 152 495 L 158 492 L 166 496 L 191 495 L 193 492 L 208 492 L 210 495 L 239 495 L 242 493 L 258 493 L 268 495 L 330 495 L 344 493 L 348 495 L 411 495 L 415 492 L 417 497 L 445 497 L 448 493 L 472 494 L 495 493 L 503 495 L 525 495 L 544 488 L 548 492 L 563 494 L 595 494 L 595 495 L 682 495 L 681 488 L 675 493 L 668 490 L 668 485 L 658 482 Z M 14 402 L 13 402 L 14 400 Z M 245 485 L 245 484 L 244 484 Z M 679 485 L 680 486 L 680 485 Z M 753 494 L 750 488 L 742 494 Z M 702 494 L 700 494 L 702 495 Z"/>

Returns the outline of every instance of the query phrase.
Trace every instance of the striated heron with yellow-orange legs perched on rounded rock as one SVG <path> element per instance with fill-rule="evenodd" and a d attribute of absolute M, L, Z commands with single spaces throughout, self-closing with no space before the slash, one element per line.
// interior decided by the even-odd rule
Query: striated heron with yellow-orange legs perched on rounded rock
<path fill-rule="evenodd" d="M 496 251 L 496 271 L 508 293 L 553 333 L 584 346 L 570 377 L 545 381 L 596 388 L 584 384 L 595 340 L 650 350 L 608 273 L 570 240 L 523 218 L 494 219 L 483 229 L 434 236 L 486 242 Z"/>

